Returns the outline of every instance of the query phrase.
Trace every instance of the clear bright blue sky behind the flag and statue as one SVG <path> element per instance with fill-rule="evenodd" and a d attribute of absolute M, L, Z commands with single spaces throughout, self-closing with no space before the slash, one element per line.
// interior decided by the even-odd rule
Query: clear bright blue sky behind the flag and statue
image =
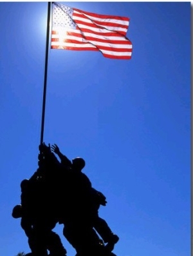
<path fill-rule="evenodd" d="M 44 141 L 107 197 L 100 216 L 120 237 L 117 256 L 190 255 L 190 2 L 65 2 L 130 17 L 130 61 L 50 50 Z M 0 254 L 30 251 L 20 182 L 37 169 L 46 2 L 0 3 Z M 68 256 L 75 250 L 62 236 Z"/>

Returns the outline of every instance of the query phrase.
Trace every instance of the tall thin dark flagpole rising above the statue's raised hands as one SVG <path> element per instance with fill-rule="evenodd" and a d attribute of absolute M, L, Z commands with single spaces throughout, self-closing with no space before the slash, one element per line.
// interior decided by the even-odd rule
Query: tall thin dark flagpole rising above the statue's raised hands
<path fill-rule="evenodd" d="M 48 50 L 50 42 L 50 10 L 51 2 L 48 2 L 48 17 L 47 17 L 47 32 L 46 32 L 46 57 L 45 57 L 45 70 L 44 70 L 44 92 L 42 101 L 42 124 L 41 124 L 41 144 L 44 139 L 44 118 L 45 118 L 45 108 L 46 108 L 46 86 L 47 86 L 47 72 L 48 72 Z"/>

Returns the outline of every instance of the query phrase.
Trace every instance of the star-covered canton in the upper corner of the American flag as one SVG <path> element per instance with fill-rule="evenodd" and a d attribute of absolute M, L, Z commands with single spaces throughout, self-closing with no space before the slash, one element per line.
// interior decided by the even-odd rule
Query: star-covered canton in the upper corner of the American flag
<path fill-rule="evenodd" d="M 73 8 L 58 3 L 55 4 L 53 8 L 53 26 L 76 29 L 77 25 L 74 23 L 72 15 Z"/>

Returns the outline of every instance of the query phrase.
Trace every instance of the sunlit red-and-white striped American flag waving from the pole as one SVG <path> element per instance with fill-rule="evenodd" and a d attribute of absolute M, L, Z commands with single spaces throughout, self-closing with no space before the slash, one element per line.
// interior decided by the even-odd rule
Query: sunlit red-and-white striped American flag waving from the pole
<path fill-rule="evenodd" d="M 51 48 L 100 51 L 107 58 L 131 59 L 128 27 L 127 17 L 93 14 L 53 3 Z"/>

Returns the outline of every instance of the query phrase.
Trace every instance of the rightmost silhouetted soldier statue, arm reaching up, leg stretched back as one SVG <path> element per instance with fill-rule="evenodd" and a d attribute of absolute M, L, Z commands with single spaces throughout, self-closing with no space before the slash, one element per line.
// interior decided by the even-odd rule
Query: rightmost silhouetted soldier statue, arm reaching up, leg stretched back
<path fill-rule="evenodd" d="M 107 243 L 107 251 L 112 251 L 116 242 L 118 242 L 118 236 L 111 231 L 107 222 L 98 216 L 100 204 L 106 205 L 106 197 L 101 192 L 92 188 L 91 181 L 89 181 L 85 173 L 82 173 L 82 169 L 85 166 L 84 159 L 77 157 L 73 159 L 72 162 L 69 161 L 68 157 L 60 152 L 56 144 L 51 146 L 51 150 L 59 156 L 65 173 L 68 173 L 66 187 L 68 187 L 69 201 L 67 203 L 68 210 L 65 211 L 69 212 L 69 217 L 67 216 L 66 220 L 63 221 L 64 233 L 65 226 L 68 226 L 71 220 L 73 220 L 73 223 L 76 223 L 76 227 L 79 226 L 80 237 L 82 228 L 85 229 L 85 226 L 87 226 L 88 229 L 94 227 L 103 241 Z M 65 182 L 64 179 L 62 182 Z M 64 215 L 68 214 L 64 213 Z M 80 223 L 82 226 L 80 226 Z M 71 234 L 72 237 L 73 233 Z M 87 236 L 86 233 L 84 233 L 84 235 Z"/>

